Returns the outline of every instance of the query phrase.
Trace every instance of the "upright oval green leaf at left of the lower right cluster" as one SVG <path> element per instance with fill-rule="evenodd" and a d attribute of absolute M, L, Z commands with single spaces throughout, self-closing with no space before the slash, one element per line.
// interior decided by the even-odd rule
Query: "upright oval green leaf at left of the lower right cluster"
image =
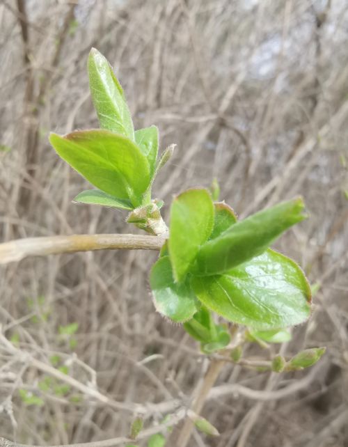
<path fill-rule="evenodd" d="M 189 189 L 174 198 L 168 247 L 175 281 L 182 281 L 189 272 L 213 224 L 214 206 L 206 189 Z"/>

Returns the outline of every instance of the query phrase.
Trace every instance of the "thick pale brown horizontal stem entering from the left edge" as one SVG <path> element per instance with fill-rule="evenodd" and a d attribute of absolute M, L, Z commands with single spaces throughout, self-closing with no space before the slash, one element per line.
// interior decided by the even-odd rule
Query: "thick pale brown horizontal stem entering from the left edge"
<path fill-rule="evenodd" d="M 166 238 L 143 235 L 71 235 L 29 237 L 0 244 L 0 264 L 8 264 L 28 256 L 94 250 L 160 250 Z"/>

